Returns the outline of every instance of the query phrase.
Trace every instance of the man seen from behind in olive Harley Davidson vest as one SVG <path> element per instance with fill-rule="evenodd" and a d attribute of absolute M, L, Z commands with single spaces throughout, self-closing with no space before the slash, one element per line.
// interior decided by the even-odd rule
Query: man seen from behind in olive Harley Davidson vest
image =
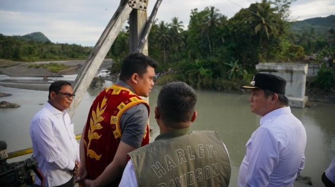
<path fill-rule="evenodd" d="M 119 186 L 228 186 L 229 155 L 219 135 L 190 131 L 195 104 L 196 93 L 186 83 L 162 87 L 155 107 L 160 135 L 128 153 Z"/>

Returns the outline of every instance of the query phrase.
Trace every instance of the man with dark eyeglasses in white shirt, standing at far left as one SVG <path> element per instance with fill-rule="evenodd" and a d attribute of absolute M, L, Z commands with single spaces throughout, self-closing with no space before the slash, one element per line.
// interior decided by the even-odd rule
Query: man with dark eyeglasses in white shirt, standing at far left
<path fill-rule="evenodd" d="M 49 87 L 48 102 L 30 124 L 33 157 L 45 176 L 45 186 L 73 186 L 73 173 L 80 161 L 79 145 L 66 109 L 74 98 L 72 85 L 55 81 Z M 41 184 L 38 177 L 35 183 Z"/>

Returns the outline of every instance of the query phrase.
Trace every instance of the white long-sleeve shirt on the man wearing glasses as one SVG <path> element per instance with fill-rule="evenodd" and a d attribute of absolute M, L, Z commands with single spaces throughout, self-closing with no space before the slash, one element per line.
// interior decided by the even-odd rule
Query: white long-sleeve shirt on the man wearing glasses
<path fill-rule="evenodd" d="M 60 111 L 48 102 L 30 124 L 33 157 L 46 179 L 45 186 L 56 186 L 72 178 L 75 161 L 79 161 L 79 145 L 66 110 Z M 35 183 L 41 184 L 38 177 Z"/>

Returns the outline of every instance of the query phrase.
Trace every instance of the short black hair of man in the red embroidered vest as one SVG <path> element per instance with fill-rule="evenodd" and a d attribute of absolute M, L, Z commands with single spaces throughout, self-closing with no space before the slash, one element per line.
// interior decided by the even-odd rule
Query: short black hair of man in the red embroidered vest
<path fill-rule="evenodd" d="M 148 66 L 157 67 L 158 62 L 140 52 L 132 52 L 123 60 L 120 80 L 128 80 L 134 73 L 142 78 L 147 72 Z"/>

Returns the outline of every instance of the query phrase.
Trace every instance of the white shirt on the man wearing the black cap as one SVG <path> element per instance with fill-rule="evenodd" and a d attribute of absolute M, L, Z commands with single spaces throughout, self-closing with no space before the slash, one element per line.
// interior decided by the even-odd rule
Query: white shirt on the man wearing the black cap
<path fill-rule="evenodd" d="M 289 107 L 264 115 L 246 144 L 238 186 L 293 186 L 304 168 L 306 130 Z"/>

